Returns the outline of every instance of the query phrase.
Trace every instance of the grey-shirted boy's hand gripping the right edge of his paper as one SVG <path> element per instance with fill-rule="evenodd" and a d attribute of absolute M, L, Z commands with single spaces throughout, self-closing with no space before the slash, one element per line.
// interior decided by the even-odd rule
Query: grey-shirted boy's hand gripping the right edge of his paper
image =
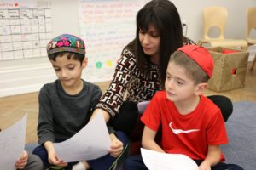
<path fill-rule="evenodd" d="M 115 136 L 115 134 L 109 134 L 112 144 L 110 145 L 109 154 L 113 157 L 119 156 L 124 150 L 123 143 Z"/>

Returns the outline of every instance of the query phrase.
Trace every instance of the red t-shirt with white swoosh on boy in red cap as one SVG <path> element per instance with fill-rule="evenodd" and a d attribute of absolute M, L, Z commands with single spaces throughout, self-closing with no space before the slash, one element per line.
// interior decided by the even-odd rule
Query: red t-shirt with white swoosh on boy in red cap
<path fill-rule="evenodd" d="M 200 103 L 194 111 L 183 116 L 174 103 L 166 99 L 166 92 L 154 95 L 142 122 L 154 131 L 161 125 L 161 146 L 166 153 L 184 154 L 194 160 L 204 160 L 207 145 L 227 144 L 228 138 L 224 119 L 218 106 L 201 95 Z M 224 156 L 221 156 L 224 161 Z"/>

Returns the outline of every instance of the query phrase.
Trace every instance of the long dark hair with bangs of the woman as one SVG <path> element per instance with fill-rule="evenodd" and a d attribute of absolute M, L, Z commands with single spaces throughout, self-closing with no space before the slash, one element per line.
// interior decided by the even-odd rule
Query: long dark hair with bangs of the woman
<path fill-rule="evenodd" d="M 144 54 L 139 41 L 139 31 L 148 31 L 153 25 L 160 32 L 160 84 L 164 87 L 168 61 L 173 52 L 183 46 L 180 16 L 174 4 L 168 0 L 153 0 L 137 12 L 136 59 L 140 71 L 148 75 L 150 57 Z"/>

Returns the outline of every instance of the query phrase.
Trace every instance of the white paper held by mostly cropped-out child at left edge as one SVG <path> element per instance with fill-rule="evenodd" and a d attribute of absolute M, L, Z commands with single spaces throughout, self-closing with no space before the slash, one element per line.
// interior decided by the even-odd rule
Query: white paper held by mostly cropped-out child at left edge
<path fill-rule="evenodd" d="M 27 114 L 0 132 L 0 169 L 15 170 L 15 162 L 23 153 L 26 140 Z"/>

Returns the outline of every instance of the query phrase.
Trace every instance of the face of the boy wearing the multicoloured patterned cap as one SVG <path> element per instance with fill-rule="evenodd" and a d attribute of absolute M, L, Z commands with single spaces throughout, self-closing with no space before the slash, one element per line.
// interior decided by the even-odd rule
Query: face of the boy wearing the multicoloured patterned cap
<path fill-rule="evenodd" d="M 87 59 L 80 63 L 79 60 L 73 58 L 67 59 L 67 54 L 57 56 L 55 61 L 50 60 L 56 76 L 60 79 L 64 88 L 73 88 L 79 85 L 83 69 L 87 65 Z"/>

